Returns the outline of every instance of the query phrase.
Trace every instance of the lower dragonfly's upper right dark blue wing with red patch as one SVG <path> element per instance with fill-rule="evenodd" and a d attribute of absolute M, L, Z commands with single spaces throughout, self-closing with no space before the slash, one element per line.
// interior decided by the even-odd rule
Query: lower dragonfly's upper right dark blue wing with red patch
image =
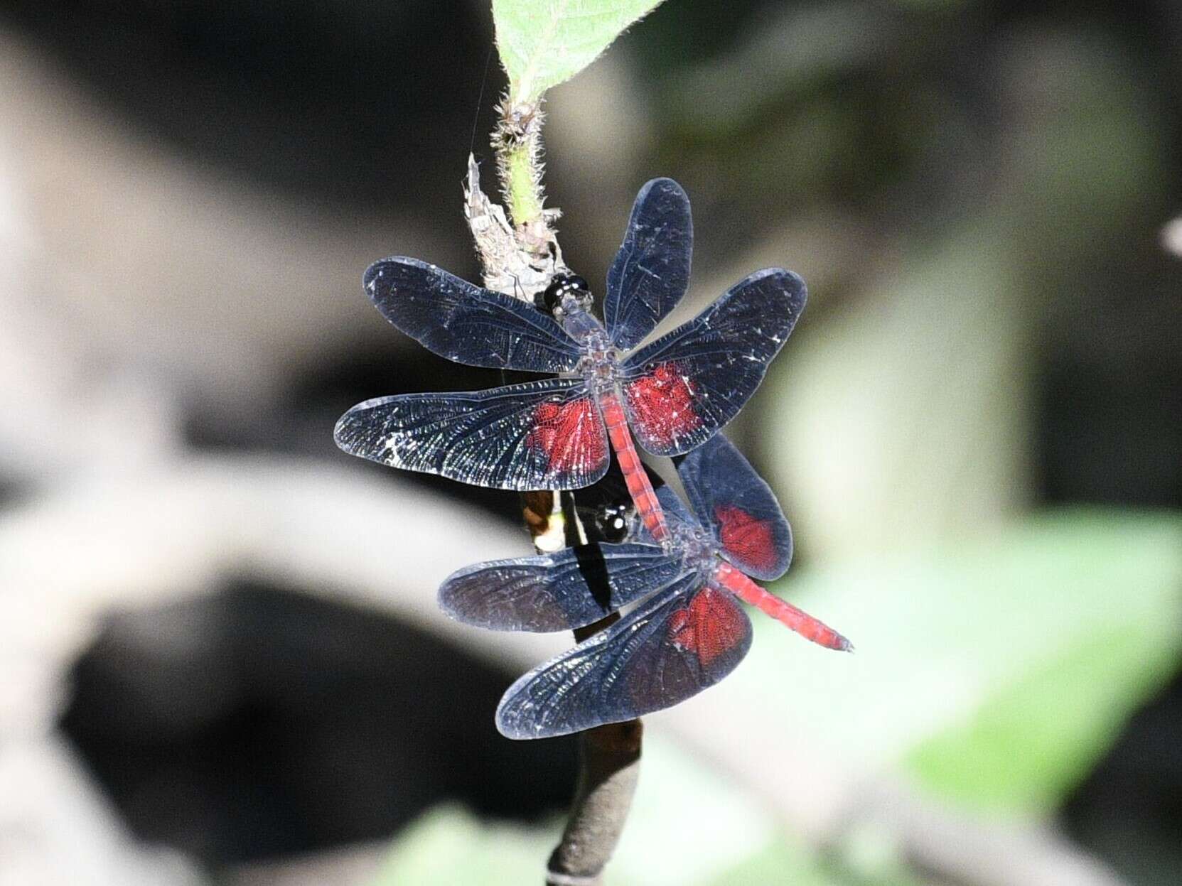
<path fill-rule="evenodd" d="M 792 529 L 771 487 L 721 434 L 677 465 L 689 502 L 722 555 L 752 578 L 772 581 L 792 562 Z"/>

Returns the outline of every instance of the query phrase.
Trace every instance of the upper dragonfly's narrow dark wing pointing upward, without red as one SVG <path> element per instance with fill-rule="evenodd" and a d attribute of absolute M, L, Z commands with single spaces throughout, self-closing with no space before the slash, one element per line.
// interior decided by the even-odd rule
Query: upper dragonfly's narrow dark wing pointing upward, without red
<path fill-rule="evenodd" d="M 681 301 L 693 246 L 689 197 L 671 178 L 654 178 L 636 195 L 608 272 L 603 317 L 616 347 L 636 347 Z"/>

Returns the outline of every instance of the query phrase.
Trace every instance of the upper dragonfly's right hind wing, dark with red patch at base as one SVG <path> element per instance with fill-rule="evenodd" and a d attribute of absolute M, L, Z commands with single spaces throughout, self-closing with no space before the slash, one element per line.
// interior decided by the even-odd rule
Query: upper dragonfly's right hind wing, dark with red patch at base
<path fill-rule="evenodd" d="M 805 306 L 791 271 L 759 271 L 684 326 L 624 361 L 624 409 L 654 455 L 701 445 L 764 380 Z"/>

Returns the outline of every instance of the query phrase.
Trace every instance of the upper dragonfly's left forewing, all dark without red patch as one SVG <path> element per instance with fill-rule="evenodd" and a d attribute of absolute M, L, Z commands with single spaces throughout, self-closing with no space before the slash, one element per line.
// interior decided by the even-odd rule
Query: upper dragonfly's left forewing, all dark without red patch
<path fill-rule="evenodd" d="M 363 282 L 387 320 L 449 360 L 556 373 L 579 361 L 574 339 L 533 305 L 418 259 L 374 262 Z"/>

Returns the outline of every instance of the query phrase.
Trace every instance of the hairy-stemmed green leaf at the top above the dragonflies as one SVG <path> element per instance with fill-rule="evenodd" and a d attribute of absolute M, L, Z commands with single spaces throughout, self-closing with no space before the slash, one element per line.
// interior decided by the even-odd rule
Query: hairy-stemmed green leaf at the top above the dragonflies
<path fill-rule="evenodd" d="M 590 65 L 661 0 L 493 0 L 509 99 L 533 102 Z"/>

